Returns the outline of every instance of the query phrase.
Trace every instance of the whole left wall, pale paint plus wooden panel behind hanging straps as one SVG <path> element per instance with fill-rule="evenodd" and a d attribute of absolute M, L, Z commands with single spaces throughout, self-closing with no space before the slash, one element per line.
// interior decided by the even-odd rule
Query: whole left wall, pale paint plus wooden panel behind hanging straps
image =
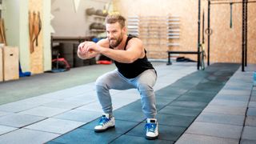
<path fill-rule="evenodd" d="M 22 71 L 39 74 L 50 70 L 50 14 L 48 14 L 48 12 L 50 13 L 50 1 L 3 0 L 2 5 L 7 46 L 18 47 Z M 42 20 L 42 30 L 38 36 L 38 46 L 35 47 L 33 54 L 30 54 L 29 10 L 32 12 L 39 11 Z"/>

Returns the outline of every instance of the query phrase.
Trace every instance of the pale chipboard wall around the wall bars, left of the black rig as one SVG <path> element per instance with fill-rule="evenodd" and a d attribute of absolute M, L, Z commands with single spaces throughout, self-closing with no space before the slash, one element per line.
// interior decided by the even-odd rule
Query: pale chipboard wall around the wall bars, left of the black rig
<path fill-rule="evenodd" d="M 198 10 L 198 3 L 194 0 L 114 0 L 114 10 L 128 16 L 178 16 L 180 18 L 181 38 L 178 43 L 181 46 L 159 47 L 154 46 L 155 51 L 159 51 L 159 59 L 166 59 L 166 50 L 196 50 L 197 46 L 197 18 L 198 14 L 194 11 Z M 147 48 L 146 48 L 147 49 Z M 161 49 L 161 50 L 159 50 Z M 150 50 L 153 50 L 150 48 Z M 150 50 L 149 53 L 150 53 Z"/>

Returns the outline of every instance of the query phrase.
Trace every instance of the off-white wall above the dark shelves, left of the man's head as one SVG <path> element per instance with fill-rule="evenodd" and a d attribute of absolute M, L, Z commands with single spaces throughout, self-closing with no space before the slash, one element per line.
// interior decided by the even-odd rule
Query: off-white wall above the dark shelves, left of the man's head
<path fill-rule="evenodd" d="M 86 9 L 94 7 L 96 10 L 103 10 L 106 2 L 110 0 L 80 0 L 77 12 L 74 10 L 73 2 L 74 0 L 52 0 L 51 14 L 54 15 L 54 19 L 51 24 L 55 30 L 54 36 L 89 36 L 88 29 L 94 19 L 86 16 Z"/>

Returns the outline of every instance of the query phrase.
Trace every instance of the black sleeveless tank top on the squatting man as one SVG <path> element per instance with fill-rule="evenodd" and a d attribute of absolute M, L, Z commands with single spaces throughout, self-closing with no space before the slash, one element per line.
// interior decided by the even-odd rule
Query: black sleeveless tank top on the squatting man
<path fill-rule="evenodd" d="M 126 46 L 127 46 L 127 43 L 129 42 L 129 40 L 131 38 L 136 38 L 136 37 L 134 35 L 129 34 L 128 38 L 126 40 Z M 124 50 L 126 50 L 126 46 L 125 46 Z M 135 78 L 139 74 L 142 74 L 142 72 L 145 71 L 145 70 L 154 69 L 152 64 L 146 58 L 146 50 L 145 50 L 145 57 L 144 58 L 138 58 L 136 61 L 134 61 L 132 63 L 122 63 L 122 62 L 117 62 L 117 61 L 114 61 L 114 63 L 115 63 L 115 66 L 118 67 L 118 71 L 125 78 Z"/>

